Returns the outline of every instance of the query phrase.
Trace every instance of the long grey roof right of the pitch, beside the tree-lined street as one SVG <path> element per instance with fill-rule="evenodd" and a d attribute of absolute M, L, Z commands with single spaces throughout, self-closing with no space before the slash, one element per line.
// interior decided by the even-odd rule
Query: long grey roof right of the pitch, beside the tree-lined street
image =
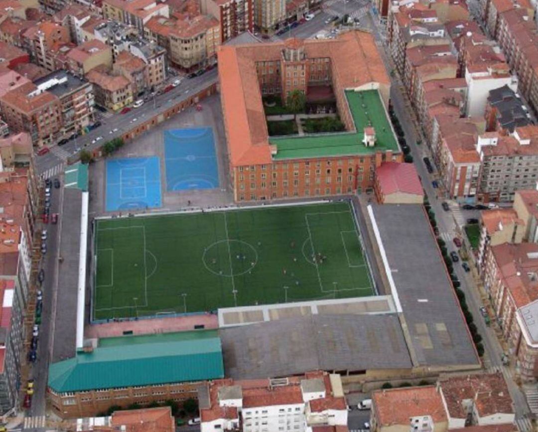
<path fill-rule="evenodd" d="M 479 363 L 441 252 L 421 205 L 372 205 L 387 277 L 396 294 L 418 365 Z M 390 273 L 390 275 L 388 274 Z M 393 293 L 394 295 L 394 293 Z M 398 303 L 398 301 L 396 302 Z"/>

